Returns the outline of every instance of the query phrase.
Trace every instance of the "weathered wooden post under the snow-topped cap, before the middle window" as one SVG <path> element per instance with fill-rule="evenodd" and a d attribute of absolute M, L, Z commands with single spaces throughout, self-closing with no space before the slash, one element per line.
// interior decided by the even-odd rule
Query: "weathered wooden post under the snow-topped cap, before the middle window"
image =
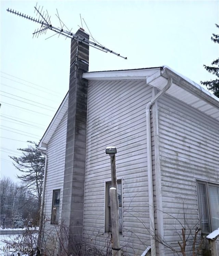
<path fill-rule="evenodd" d="M 110 188 L 110 212 L 112 226 L 112 252 L 113 256 L 121 256 L 119 242 L 119 207 L 117 196 L 117 179 L 116 179 L 116 159 L 115 154 L 110 154 L 111 159 L 111 179 L 112 187 Z"/>

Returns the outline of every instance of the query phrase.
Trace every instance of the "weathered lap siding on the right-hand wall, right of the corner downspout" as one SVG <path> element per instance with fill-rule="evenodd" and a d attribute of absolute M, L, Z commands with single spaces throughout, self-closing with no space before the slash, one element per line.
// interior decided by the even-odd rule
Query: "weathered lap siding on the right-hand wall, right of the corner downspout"
<path fill-rule="evenodd" d="M 196 179 L 219 183 L 219 123 L 167 96 L 159 100 L 158 123 L 164 233 L 175 243 L 183 211 L 190 227 L 198 223 Z"/>

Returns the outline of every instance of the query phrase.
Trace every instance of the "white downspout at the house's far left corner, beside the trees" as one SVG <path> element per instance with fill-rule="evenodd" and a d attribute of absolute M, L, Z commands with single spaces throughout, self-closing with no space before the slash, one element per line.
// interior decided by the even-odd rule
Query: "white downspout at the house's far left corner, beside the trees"
<path fill-rule="evenodd" d="M 42 231 L 42 218 L 43 218 L 43 206 L 44 206 L 44 194 L 45 194 L 45 182 L 46 182 L 46 176 L 47 176 L 47 161 L 48 161 L 48 157 L 47 157 L 47 149 L 46 149 L 46 153 L 44 153 L 44 150 L 39 150 L 41 155 L 45 157 L 45 167 L 44 167 L 44 176 L 43 176 L 43 187 L 42 187 L 42 198 L 41 198 L 41 208 L 40 208 L 40 221 L 39 221 L 39 234 L 38 234 L 38 241 L 37 241 L 37 245 L 38 248 L 40 249 L 40 239 L 41 239 L 41 231 Z"/>

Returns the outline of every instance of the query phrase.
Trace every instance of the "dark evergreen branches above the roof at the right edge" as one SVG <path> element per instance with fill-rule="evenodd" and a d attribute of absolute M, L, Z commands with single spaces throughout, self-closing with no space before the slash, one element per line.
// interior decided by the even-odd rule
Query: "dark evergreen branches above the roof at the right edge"
<path fill-rule="evenodd" d="M 215 24 L 217 28 L 219 28 L 219 25 Z M 212 34 L 211 40 L 217 44 L 219 44 L 219 35 Z M 214 95 L 219 98 L 219 58 L 214 60 L 211 63 L 212 66 L 207 66 L 204 65 L 204 68 L 209 72 L 212 73 L 213 75 L 216 75 L 217 78 L 215 80 L 211 81 L 201 81 L 201 84 L 207 86 L 209 90 L 214 92 Z"/>

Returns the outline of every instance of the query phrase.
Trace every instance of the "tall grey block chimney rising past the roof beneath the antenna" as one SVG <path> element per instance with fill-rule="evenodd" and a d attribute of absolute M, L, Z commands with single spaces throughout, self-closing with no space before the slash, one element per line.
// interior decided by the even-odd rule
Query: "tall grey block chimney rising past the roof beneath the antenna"
<path fill-rule="evenodd" d="M 89 35 L 78 29 L 72 39 L 68 92 L 68 118 L 65 172 L 62 199 L 62 224 L 67 232 L 67 251 L 75 251 L 82 239 L 83 203 L 86 168 L 87 93 L 88 81 L 82 74 L 88 71 Z"/>

